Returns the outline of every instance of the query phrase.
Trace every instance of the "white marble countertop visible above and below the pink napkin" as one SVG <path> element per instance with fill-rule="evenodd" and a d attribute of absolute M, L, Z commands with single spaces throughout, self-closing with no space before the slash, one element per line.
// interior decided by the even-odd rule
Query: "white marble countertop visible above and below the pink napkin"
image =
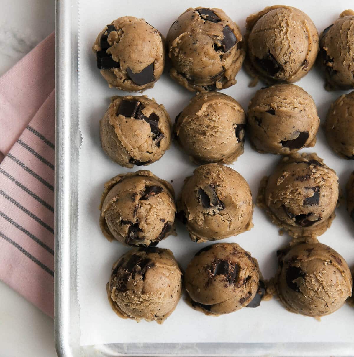
<path fill-rule="evenodd" d="M 54 31 L 55 0 L 11 0 L 0 11 L 0 75 Z M 0 356 L 52 357 L 54 321 L 0 282 Z"/>

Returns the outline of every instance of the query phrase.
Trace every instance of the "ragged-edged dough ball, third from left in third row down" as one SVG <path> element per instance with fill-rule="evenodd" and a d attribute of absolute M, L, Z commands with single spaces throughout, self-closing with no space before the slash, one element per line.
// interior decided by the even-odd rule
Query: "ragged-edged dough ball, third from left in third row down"
<path fill-rule="evenodd" d="M 257 203 L 290 236 L 314 238 L 330 227 L 338 195 L 338 177 L 322 159 L 293 154 L 263 178 Z"/>

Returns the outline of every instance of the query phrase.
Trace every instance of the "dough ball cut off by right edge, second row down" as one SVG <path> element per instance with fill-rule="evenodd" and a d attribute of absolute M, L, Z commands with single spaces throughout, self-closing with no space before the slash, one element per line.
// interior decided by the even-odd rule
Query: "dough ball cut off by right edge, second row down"
<path fill-rule="evenodd" d="M 331 148 L 344 159 L 354 160 L 354 91 L 331 104 L 325 125 Z"/>

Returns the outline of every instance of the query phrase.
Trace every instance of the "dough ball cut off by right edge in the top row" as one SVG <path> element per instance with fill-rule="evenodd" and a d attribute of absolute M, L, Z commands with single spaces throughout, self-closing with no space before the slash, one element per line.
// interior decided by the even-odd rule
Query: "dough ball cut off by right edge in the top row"
<path fill-rule="evenodd" d="M 327 90 L 354 88 L 354 11 L 345 10 L 321 34 L 319 61 Z"/>

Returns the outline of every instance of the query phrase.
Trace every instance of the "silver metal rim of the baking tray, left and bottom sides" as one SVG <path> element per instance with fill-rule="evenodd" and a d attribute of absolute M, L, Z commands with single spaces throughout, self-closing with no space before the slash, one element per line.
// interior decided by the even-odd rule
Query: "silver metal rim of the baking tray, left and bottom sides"
<path fill-rule="evenodd" d="M 58 355 L 353 356 L 354 343 L 137 342 L 80 346 L 76 271 L 81 144 L 78 126 L 78 1 L 56 1 L 55 46 L 55 339 Z"/>

